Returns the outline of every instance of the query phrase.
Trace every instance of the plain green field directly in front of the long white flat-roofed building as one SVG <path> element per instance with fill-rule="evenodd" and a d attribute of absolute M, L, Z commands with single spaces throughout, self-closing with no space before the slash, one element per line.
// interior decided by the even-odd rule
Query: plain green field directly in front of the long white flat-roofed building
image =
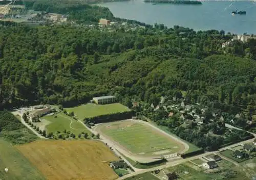
<path fill-rule="evenodd" d="M 67 110 L 68 112 L 73 111 L 80 120 L 83 120 L 86 117 L 88 118 L 104 114 L 122 113 L 125 111 L 130 111 L 129 108 L 119 103 L 108 105 L 96 105 L 89 103 L 74 108 L 66 108 L 65 110 Z"/>

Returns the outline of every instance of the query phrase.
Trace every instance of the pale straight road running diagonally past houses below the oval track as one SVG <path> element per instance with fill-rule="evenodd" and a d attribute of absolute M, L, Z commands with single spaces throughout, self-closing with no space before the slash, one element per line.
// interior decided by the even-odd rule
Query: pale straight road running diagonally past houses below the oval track
<path fill-rule="evenodd" d="M 176 165 L 185 163 L 187 161 L 191 161 L 191 160 L 202 158 L 202 157 L 207 156 L 207 155 L 211 155 L 212 153 L 219 153 L 222 150 L 226 150 L 226 149 L 229 149 L 229 148 L 232 148 L 232 147 L 236 147 L 236 146 L 242 145 L 244 143 L 253 142 L 254 139 L 255 138 L 249 139 L 249 140 L 246 140 L 246 141 L 242 141 L 242 142 L 239 142 L 239 143 L 236 143 L 236 144 L 232 144 L 230 146 L 223 147 L 223 148 L 221 148 L 221 149 L 219 149 L 217 151 L 205 152 L 205 153 L 202 153 L 201 155 L 193 156 L 193 157 L 190 157 L 190 158 L 181 159 L 181 160 L 177 160 L 177 161 L 173 161 L 173 162 L 167 162 L 165 165 L 162 165 L 162 166 L 157 166 L 157 167 L 150 168 L 150 169 L 141 169 L 140 171 L 137 171 L 137 172 L 134 172 L 134 173 L 131 173 L 131 174 L 126 174 L 126 175 L 124 175 L 122 177 L 119 177 L 116 180 L 122 180 L 122 179 L 125 179 L 127 177 L 132 177 L 132 176 L 135 176 L 135 175 L 138 175 L 138 174 L 142 174 L 142 173 L 145 173 L 145 172 L 151 172 L 151 171 L 154 171 L 156 169 L 164 169 L 164 168 L 167 168 L 167 167 L 176 166 Z M 223 158 L 223 159 L 226 159 L 226 160 L 230 161 L 226 157 Z M 231 161 L 231 162 L 233 163 L 233 161 Z M 234 163 L 234 164 L 238 165 L 238 163 Z"/>

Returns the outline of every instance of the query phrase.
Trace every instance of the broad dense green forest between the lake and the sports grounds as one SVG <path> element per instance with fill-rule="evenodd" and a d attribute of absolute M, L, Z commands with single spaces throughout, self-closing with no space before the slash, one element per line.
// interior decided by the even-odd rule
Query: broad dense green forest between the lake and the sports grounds
<path fill-rule="evenodd" d="M 40 2 L 49 6 L 49 1 Z M 69 12 L 81 13 L 74 16 L 81 20 L 87 9 Z M 100 17 L 104 15 L 95 20 Z M 238 53 L 233 47 L 225 52 L 221 48 L 231 38 L 224 31 L 167 29 L 163 24 L 127 32 L 71 24 L 2 24 L 0 94 L 3 97 L 14 87 L 5 106 L 75 106 L 106 94 L 116 95 L 125 105 L 131 100 L 156 104 L 161 95 L 181 97 L 185 91 L 190 101 L 223 111 L 255 110 L 256 41 L 244 44 Z"/>

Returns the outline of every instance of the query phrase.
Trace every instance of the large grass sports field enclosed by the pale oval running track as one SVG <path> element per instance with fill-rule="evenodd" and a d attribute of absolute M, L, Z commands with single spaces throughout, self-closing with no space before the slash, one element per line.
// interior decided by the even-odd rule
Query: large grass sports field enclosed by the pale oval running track
<path fill-rule="evenodd" d="M 104 123 L 96 131 L 137 155 L 160 156 L 184 149 L 183 144 L 155 128 L 132 120 Z"/>

